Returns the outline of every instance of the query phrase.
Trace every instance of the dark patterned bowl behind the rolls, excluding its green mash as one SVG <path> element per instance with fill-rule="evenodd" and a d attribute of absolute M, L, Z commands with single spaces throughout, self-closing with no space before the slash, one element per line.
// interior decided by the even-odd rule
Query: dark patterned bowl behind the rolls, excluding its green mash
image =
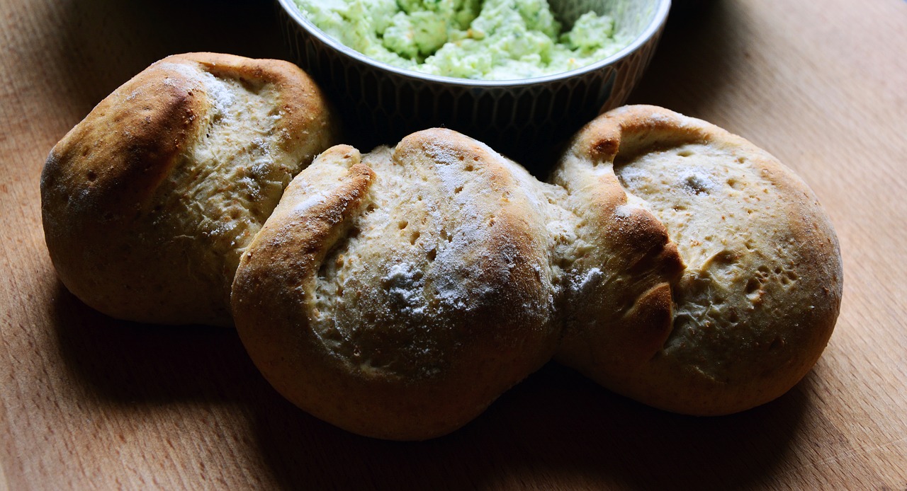
<path fill-rule="evenodd" d="M 565 3 L 582 12 L 590 4 L 602 2 Z M 639 82 L 655 53 L 670 0 L 627 5 L 646 9 L 631 13 L 645 23 L 642 34 L 603 63 L 535 79 L 474 81 L 375 62 L 308 23 L 293 0 L 277 0 L 290 50 L 341 111 L 347 142 L 371 149 L 416 130 L 445 127 L 482 140 L 533 171 L 550 167 L 562 140 L 600 112 L 621 105 Z M 558 14 L 575 19 L 581 12 Z"/>

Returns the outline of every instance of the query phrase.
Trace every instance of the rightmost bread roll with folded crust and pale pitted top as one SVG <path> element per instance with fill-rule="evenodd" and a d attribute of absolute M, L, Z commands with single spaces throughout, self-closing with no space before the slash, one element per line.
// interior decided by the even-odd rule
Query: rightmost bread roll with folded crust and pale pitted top
<path fill-rule="evenodd" d="M 813 192 L 764 150 L 631 106 L 580 130 L 553 176 L 585 224 L 564 266 L 576 287 L 558 360 L 694 415 L 774 400 L 814 365 L 841 255 Z"/>

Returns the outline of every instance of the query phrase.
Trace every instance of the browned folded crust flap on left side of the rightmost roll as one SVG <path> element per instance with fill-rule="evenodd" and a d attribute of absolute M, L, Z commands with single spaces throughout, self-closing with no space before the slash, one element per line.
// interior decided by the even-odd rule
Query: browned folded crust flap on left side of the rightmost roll
<path fill-rule="evenodd" d="M 565 258 L 571 279 L 558 354 L 580 370 L 620 371 L 653 356 L 670 332 L 668 284 L 684 267 L 658 219 L 628 205 L 612 168 L 620 146 L 619 126 L 595 120 L 552 174 L 568 191 L 563 206 L 580 217 L 579 250 Z"/>

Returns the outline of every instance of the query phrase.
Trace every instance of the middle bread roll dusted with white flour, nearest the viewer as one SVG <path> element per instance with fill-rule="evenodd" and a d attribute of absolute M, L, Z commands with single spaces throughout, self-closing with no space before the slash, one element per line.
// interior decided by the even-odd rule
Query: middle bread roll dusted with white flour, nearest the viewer
<path fill-rule="evenodd" d="M 249 355 L 288 400 L 358 434 L 461 427 L 557 344 L 541 186 L 451 130 L 328 149 L 242 256 Z"/>

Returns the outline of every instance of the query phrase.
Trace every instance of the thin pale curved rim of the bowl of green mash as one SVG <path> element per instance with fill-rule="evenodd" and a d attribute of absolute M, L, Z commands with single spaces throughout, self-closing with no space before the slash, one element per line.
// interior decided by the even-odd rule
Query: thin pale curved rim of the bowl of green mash
<path fill-rule="evenodd" d="M 611 54 L 606 58 L 602 58 L 598 62 L 590 63 L 567 72 L 558 72 L 551 73 L 549 75 L 541 75 L 539 77 L 531 77 L 525 79 L 511 79 L 511 80 L 483 80 L 483 79 L 464 79 L 459 77 L 447 77 L 443 75 L 434 75 L 431 73 L 425 72 L 416 72 L 414 70 L 409 70 L 406 68 L 401 68 L 389 63 L 379 62 L 366 54 L 359 53 L 353 48 L 346 46 L 344 43 L 340 43 L 332 36 L 326 34 L 324 31 L 319 29 L 317 25 L 310 22 L 303 14 L 302 11 L 297 7 L 294 0 L 277 0 L 280 8 L 287 13 L 290 18 L 292 18 L 300 27 L 305 29 L 308 34 L 315 36 L 320 42 L 327 44 L 331 48 L 334 48 L 336 51 L 346 54 L 351 58 L 356 59 L 360 63 L 366 63 L 371 67 L 382 70 L 385 72 L 393 72 L 399 77 L 404 77 L 406 79 L 421 81 L 421 82 L 435 82 L 435 83 L 444 83 L 446 85 L 458 85 L 464 88 L 491 88 L 491 87 L 522 87 L 535 85 L 538 83 L 546 82 L 557 82 L 564 79 L 570 79 L 572 77 L 581 76 L 588 72 L 595 72 L 600 68 L 603 68 L 612 63 L 618 62 L 619 60 L 626 58 L 630 53 L 633 53 L 639 49 L 645 43 L 649 42 L 653 36 L 658 34 L 661 27 L 665 24 L 668 18 L 668 11 L 670 10 L 671 0 L 657 0 L 658 5 L 656 6 L 656 11 L 652 15 L 649 24 L 646 25 L 639 35 L 637 35 L 632 42 L 624 46 L 619 52 Z"/>

